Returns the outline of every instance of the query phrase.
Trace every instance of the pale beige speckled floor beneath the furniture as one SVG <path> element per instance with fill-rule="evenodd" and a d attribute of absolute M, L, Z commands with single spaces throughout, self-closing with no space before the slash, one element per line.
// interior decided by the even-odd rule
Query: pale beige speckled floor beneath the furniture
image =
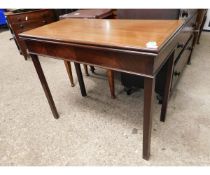
<path fill-rule="evenodd" d="M 84 76 L 83 98 L 75 70 L 72 88 L 63 62 L 43 57 L 55 120 L 31 60 L 10 37 L 0 32 L 0 165 L 210 165 L 210 33 L 202 34 L 165 123 L 154 106 L 149 161 L 142 159 L 143 90 L 127 96 L 117 78 L 113 100 L 105 71 L 96 68 Z"/>

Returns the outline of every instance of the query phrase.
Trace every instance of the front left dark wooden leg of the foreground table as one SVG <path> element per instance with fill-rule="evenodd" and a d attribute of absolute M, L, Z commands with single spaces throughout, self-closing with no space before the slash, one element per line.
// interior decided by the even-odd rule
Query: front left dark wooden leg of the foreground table
<path fill-rule="evenodd" d="M 58 114 L 57 109 L 55 107 L 55 103 L 53 101 L 50 89 L 48 87 L 46 78 L 44 76 L 44 73 L 43 73 L 43 70 L 42 70 L 42 67 L 41 67 L 41 64 L 39 62 L 39 58 L 38 58 L 37 55 L 33 55 L 33 54 L 31 54 L 30 56 L 31 56 L 32 61 L 34 63 L 34 67 L 35 67 L 36 72 L 38 74 L 39 80 L 40 80 L 40 82 L 42 84 L 42 88 L 43 88 L 43 90 L 45 92 L 45 95 L 47 97 L 47 100 L 48 100 L 48 103 L 50 105 L 50 108 L 51 108 L 51 111 L 53 113 L 53 116 L 54 116 L 55 119 L 58 119 L 59 118 L 59 114 Z"/>

